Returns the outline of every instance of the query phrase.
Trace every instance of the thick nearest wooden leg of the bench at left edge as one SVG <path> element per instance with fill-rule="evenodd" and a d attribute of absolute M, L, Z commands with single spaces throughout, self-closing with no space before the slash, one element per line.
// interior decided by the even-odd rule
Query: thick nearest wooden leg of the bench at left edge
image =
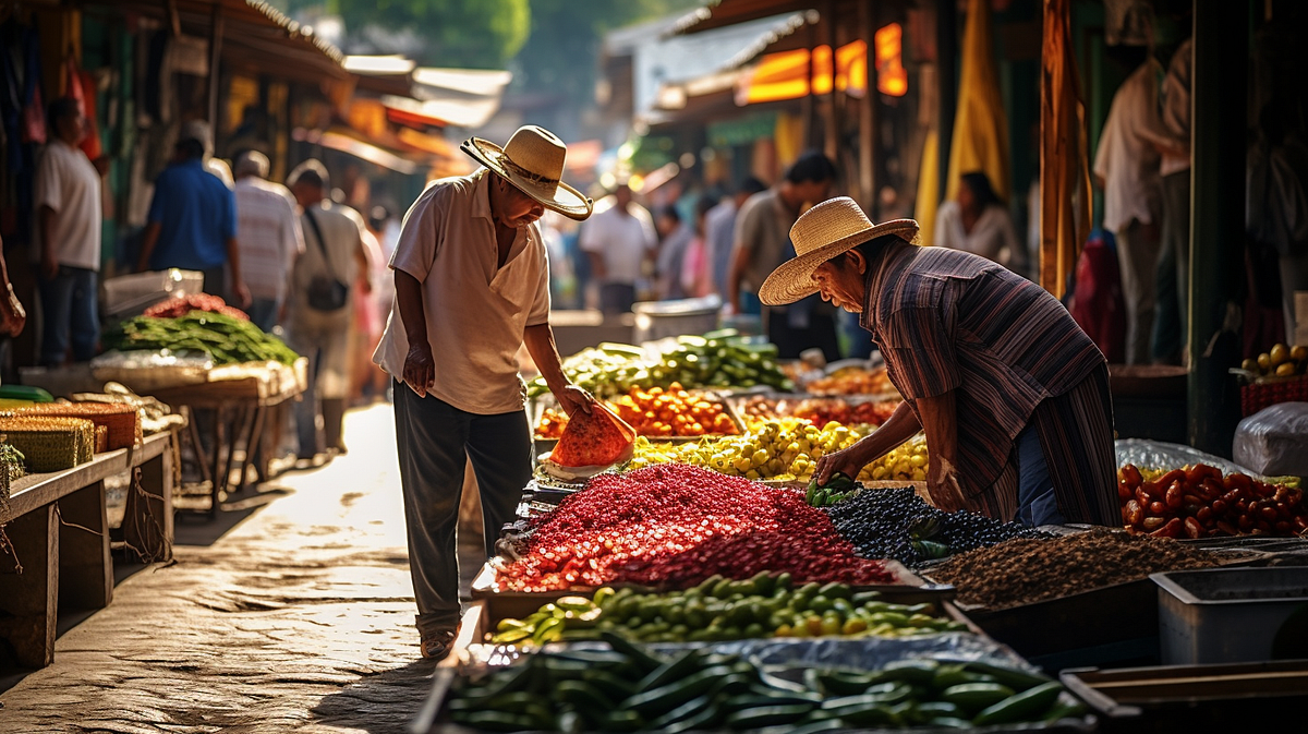
<path fill-rule="evenodd" d="M 55 659 L 59 621 L 59 518 L 55 505 L 26 513 L 5 527 L 14 559 L 0 556 L 0 640 L 22 667 Z M 22 564 L 22 573 L 17 573 Z"/>

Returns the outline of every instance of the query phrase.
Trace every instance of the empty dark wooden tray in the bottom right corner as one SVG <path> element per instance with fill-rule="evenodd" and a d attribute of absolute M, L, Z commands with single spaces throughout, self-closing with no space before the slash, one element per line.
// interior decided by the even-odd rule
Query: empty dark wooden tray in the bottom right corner
<path fill-rule="evenodd" d="M 1103 731 L 1304 731 L 1308 661 L 1071 669 L 1059 679 Z"/>

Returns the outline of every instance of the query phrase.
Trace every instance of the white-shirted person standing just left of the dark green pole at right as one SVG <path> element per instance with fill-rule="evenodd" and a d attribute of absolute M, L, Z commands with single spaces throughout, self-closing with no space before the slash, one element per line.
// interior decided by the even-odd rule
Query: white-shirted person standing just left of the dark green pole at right
<path fill-rule="evenodd" d="M 1095 153 L 1095 178 L 1104 190 L 1104 229 L 1117 238 L 1126 300 L 1126 364 L 1148 364 L 1158 292 L 1159 145 L 1168 145 L 1158 113 L 1162 67 L 1146 48 L 1120 48 L 1144 61 L 1113 96 Z M 1134 60 L 1134 59 L 1133 59 Z"/>

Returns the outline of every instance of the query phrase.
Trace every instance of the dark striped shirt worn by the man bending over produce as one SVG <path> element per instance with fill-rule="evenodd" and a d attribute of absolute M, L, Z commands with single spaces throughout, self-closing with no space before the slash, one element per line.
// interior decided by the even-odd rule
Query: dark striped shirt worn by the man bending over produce
<path fill-rule="evenodd" d="M 1036 406 L 1105 364 L 1053 296 L 977 255 L 896 243 L 874 258 L 866 283 L 859 323 L 918 420 L 921 399 L 955 390 L 968 497 L 1011 471 L 1012 440 Z"/>

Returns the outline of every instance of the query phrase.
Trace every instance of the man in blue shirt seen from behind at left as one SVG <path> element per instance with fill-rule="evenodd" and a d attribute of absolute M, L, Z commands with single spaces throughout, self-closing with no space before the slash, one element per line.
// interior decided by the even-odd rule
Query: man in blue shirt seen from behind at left
<path fill-rule="evenodd" d="M 154 182 L 136 270 L 182 268 L 204 273 L 204 292 L 250 305 L 237 249 L 237 200 L 205 169 L 208 126 L 187 123 L 173 164 Z M 230 281 L 228 281 L 230 279 Z"/>

